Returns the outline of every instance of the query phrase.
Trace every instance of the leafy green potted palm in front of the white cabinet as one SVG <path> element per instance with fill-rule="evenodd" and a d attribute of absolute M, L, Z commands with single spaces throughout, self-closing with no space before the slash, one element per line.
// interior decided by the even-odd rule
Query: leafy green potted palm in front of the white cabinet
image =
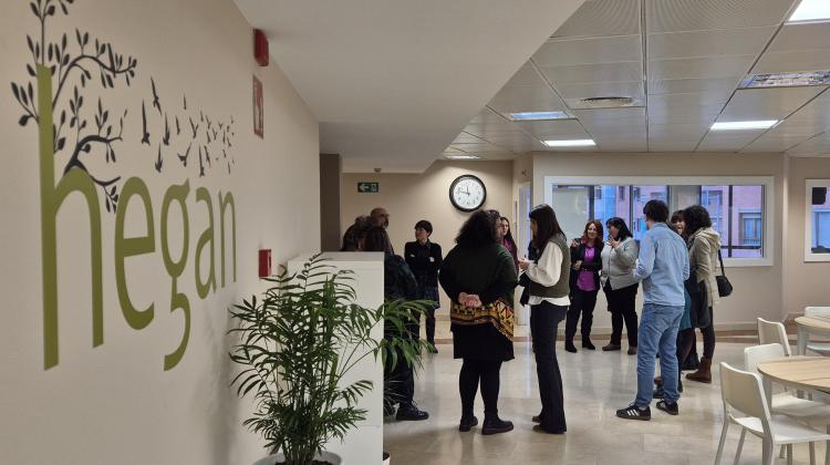
<path fill-rule="evenodd" d="M 419 363 L 426 342 L 407 338 L 405 327 L 428 302 L 366 309 L 355 303 L 350 275 L 314 256 L 293 275 L 280 267 L 261 296 L 230 309 L 239 322 L 229 331 L 238 338 L 230 359 L 242 366 L 231 385 L 253 397 L 243 424 L 271 452 L 256 465 L 341 465 L 323 446 L 365 420 L 357 402 L 373 389 L 369 380 L 343 383 L 344 376 L 366 358 Z M 371 335 L 378 324 L 380 341 Z"/>

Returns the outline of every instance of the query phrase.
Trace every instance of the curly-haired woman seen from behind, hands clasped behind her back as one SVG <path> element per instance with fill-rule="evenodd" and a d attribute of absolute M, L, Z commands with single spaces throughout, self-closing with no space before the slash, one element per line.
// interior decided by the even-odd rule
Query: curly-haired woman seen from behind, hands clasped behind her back
<path fill-rule="evenodd" d="M 495 210 L 474 213 L 461 226 L 438 275 L 452 301 L 453 355 L 463 360 L 458 431 L 478 424 L 473 407 L 480 385 L 485 435 L 513 428 L 512 422 L 498 414 L 499 372 L 504 362 L 513 359 L 513 289 L 518 283 L 512 258 L 496 231 L 499 218 Z"/>

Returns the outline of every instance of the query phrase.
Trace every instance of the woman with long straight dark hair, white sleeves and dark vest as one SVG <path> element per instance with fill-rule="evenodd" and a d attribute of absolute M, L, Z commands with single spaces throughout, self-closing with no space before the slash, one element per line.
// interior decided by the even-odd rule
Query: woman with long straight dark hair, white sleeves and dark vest
<path fill-rule="evenodd" d="M 530 334 L 533 340 L 536 372 L 539 378 L 539 397 L 542 410 L 533 416 L 533 431 L 564 434 L 562 374 L 557 361 L 557 331 L 570 304 L 569 278 L 571 255 L 568 239 L 549 205 L 530 211 L 530 230 L 533 244 L 540 250 L 536 261 L 519 260 L 519 268 L 528 279 L 530 303 Z"/>

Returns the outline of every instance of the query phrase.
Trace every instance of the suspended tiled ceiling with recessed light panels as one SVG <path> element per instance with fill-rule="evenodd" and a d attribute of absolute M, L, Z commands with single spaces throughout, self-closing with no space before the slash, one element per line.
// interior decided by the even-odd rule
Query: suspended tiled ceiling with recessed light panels
<path fill-rule="evenodd" d="M 830 154 L 827 86 L 739 90 L 748 74 L 830 70 L 830 23 L 788 24 L 796 0 L 589 0 L 445 148 L 510 159 L 592 138 L 569 152 Z M 627 96 L 632 107 L 574 110 Z M 511 122 L 566 111 L 573 120 Z M 712 132 L 715 122 L 779 120 L 769 130 Z M 562 151 L 562 148 L 556 149 Z"/>

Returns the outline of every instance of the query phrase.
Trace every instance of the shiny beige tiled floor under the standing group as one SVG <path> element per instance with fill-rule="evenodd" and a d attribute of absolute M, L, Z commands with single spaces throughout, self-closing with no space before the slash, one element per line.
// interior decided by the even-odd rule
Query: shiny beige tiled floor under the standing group
<path fill-rule="evenodd" d="M 719 343 L 716 361 L 743 365 L 743 349 Z M 428 355 L 418 374 L 415 399 L 430 417 L 424 422 L 395 422 L 384 425 L 384 448 L 394 465 L 445 464 L 710 464 L 717 450 L 722 425 L 720 386 L 685 383 L 681 415 L 670 416 L 652 407 L 651 422 L 616 418 L 615 409 L 634 399 L 636 358 L 624 352 L 580 351 L 571 354 L 558 348 L 564 381 L 568 433 L 562 436 L 531 431 L 530 417 L 539 411 L 536 365 L 528 343 L 516 344 L 516 360 L 504 365 L 499 413 L 513 421 L 516 430 L 483 436 L 480 427 L 459 433 L 460 401 L 458 370 L 452 345 L 439 344 L 439 353 Z M 483 420 L 480 396 L 476 414 Z M 724 463 L 734 458 L 738 438 L 733 427 Z M 760 463 L 760 440 L 747 437 L 741 464 Z M 795 446 L 795 463 L 809 463 L 807 445 Z M 817 447 L 822 463 L 824 446 Z M 779 458 L 779 463 L 785 459 Z"/>

